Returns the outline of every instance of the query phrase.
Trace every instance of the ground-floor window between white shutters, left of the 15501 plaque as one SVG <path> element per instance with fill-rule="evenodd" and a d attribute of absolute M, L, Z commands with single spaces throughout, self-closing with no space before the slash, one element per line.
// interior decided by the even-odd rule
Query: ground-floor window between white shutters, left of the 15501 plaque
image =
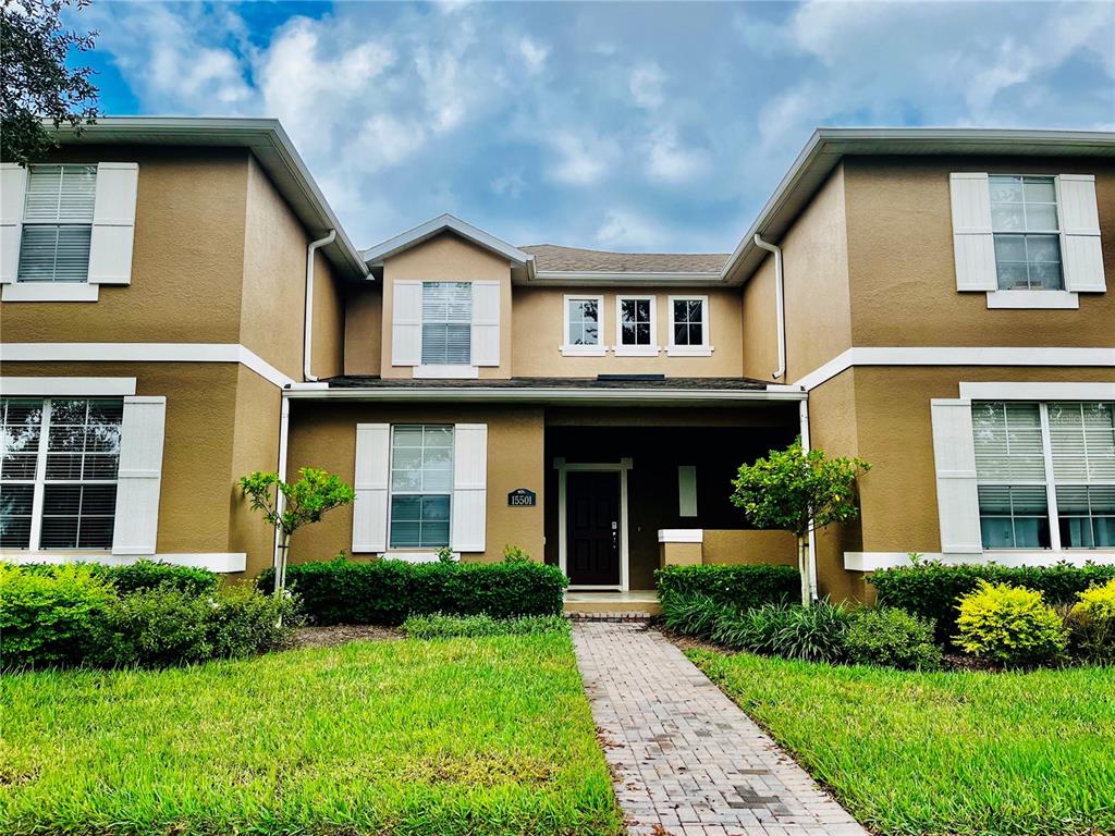
<path fill-rule="evenodd" d="M 390 474 L 390 547 L 449 545 L 453 427 L 392 427 Z"/>

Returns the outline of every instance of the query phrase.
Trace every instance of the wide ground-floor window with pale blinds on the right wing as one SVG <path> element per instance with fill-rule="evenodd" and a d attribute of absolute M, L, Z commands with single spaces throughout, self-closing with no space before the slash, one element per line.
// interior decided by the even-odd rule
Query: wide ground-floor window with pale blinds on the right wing
<path fill-rule="evenodd" d="M 1115 404 L 972 404 L 985 548 L 1115 547 Z"/>

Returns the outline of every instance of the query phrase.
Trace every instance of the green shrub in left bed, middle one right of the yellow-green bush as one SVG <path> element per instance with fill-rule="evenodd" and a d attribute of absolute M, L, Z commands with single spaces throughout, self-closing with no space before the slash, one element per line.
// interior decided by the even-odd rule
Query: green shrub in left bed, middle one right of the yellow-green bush
<path fill-rule="evenodd" d="M 214 602 L 175 586 L 140 590 L 108 610 L 108 647 L 103 664 L 163 667 L 213 655 L 209 620 Z"/>

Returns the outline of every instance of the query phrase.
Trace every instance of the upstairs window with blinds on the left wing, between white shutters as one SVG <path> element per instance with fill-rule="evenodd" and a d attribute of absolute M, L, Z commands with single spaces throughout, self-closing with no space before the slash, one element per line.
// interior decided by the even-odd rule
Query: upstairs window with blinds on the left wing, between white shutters
<path fill-rule="evenodd" d="M 17 281 L 88 281 L 96 196 L 95 165 L 30 167 Z"/>

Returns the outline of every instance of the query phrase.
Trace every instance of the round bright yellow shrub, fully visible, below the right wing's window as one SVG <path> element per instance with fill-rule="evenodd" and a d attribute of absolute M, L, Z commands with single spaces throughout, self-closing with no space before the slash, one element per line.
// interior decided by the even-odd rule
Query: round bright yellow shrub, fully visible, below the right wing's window
<path fill-rule="evenodd" d="M 1035 590 L 979 581 L 959 610 L 957 643 L 1008 668 L 1054 661 L 1068 643 L 1061 619 Z"/>

